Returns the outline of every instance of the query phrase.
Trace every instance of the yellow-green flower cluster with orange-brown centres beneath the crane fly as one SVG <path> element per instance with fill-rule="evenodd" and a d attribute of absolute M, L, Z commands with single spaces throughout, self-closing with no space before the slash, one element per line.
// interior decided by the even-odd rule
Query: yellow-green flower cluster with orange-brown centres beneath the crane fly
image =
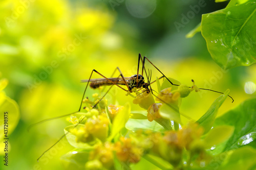
<path fill-rule="evenodd" d="M 150 122 L 156 120 L 160 125 L 161 122 L 167 123 L 165 127 L 169 126 L 165 128 L 162 125 L 165 130 L 159 132 L 127 130 L 125 123 L 129 119 L 130 107 L 113 104 L 108 106 L 105 99 L 99 101 L 99 95 L 94 94 L 94 101 L 88 98 L 83 101 L 86 112 L 76 113 L 69 119 L 69 122 L 74 124 L 69 132 L 75 136 L 75 140 L 72 139 L 70 142 L 75 141 L 73 146 L 79 146 L 79 151 L 90 151 L 84 160 L 86 169 L 116 169 L 116 161 L 120 165 L 130 166 L 147 154 L 156 155 L 173 167 L 183 169 L 190 166 L 193 160 L 204 160 L 206 147 L 204 140 L 201 139 L 204 129 L 190 122 L 180 129 L 170 130 L 170 119 L 161 116 L 161 108 L 167 104 L 178 107 L 180 99 L 193 90 L 199 90 L 195 84 L 192 87 L 181 85 L 173 91 L 172 88 L 163 89 L 156 96 L 156 101 L 160 103 L 155 102 L 152 93 L 137 92 L 133 103 L 147 110 L 147 119 Z M 79 143 L 89 144 L 90 147 Z"/>

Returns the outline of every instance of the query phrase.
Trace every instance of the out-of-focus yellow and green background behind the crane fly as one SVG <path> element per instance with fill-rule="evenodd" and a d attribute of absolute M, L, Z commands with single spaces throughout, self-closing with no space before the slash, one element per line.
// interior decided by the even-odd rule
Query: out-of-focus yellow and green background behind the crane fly
<path fill-rule="evenodd" d="M 63 128 L 69 123 L 65 118 L 52 120 L 30 132 L 28 126 L 78 110 L 86 86 L 80 80 L 89 79 L 93 69 L 106 77 L 110 77 L 117 66 L 125 77 L 136 74 L 139 53 L 167 77 L 182 84 L 191 85 L 194 79 L 201 88 L 222 92 L 229 88 L 234 103 L 227 99 L 219 115 L 255 96 L 244 90 L 246 82 L 256 82 L 255 65 L 224 71 L 211 59 L 200 33 L 185 38 L 201 21 L 201 14 L 227 5 L 227 2 L 205 1 L 205 6 L 194 12 L 193 17 L 184 20 L 198 3 L 2 0 L 0 73 L 1 78 L 9 80 L 4 91 L 18 103 L 20 120 L 9 136 L 9 166 L 1 161 L 0 168 L 61 169 L 59 157 L 72 150 L 66 139 L 39 162 L 36 159 L 63 135 Z M 177 29 L 177 22 L 182 27 Z M 152 80 L 161 76 L 150 64 L 146 67 L 153 71 Z M 92 78 L 101 77 L 94 74 Z M 118 92 L 119 104 L 132 101 L 124 91 L 116 90 L 111 92 Z M 86 95 L 95 92 L 97 90 L 88 89 Z M 181 111 L 198 119 L 218 96 L 214 92 L 193 92 L 183 100 Z M 132 104 L 132 109 L 140 108 Z M 2 149 L 1 152 L 4 154 Z M 141 166 L 145 168 L 144 160 L 134 168 Z"/>

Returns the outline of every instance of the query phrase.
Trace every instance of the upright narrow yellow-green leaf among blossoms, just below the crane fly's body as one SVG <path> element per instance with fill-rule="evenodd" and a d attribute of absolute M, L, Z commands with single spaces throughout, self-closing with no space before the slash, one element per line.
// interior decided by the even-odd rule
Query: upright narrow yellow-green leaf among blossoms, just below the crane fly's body
<path fill-rule="evenodd" d="M 126 103 L 123 109 L 116 115 L 113 125 L 112 125 L 112 132 L 109 140 L 112 140 L 115 135 L 117 135 L 120 130 L 125 127 L 126 122 L 128 121 L 131 113 L 131 106 L 129 103 Z"/>

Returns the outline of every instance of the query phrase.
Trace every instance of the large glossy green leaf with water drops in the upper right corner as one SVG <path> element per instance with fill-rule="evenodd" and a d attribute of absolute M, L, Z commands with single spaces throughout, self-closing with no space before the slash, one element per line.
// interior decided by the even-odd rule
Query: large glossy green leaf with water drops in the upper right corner
<path fill-rule="evenodd" d="M 226 8 L 202 16 L 202 35 L 208 51 L 223 69 L 256 62 L 256 3 Z"/>

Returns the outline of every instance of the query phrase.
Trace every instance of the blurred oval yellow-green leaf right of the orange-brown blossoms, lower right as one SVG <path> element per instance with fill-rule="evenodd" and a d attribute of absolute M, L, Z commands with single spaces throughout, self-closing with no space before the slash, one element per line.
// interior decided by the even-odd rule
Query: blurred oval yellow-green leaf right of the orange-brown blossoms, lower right
<path fill-rule="evenodd" d="M 213 145 L 226 141 L 233 134 L 233 132 L 234 127 L 226 125 L 211 129 L 204 138 L 205 148 L 208 149 Z"/>

